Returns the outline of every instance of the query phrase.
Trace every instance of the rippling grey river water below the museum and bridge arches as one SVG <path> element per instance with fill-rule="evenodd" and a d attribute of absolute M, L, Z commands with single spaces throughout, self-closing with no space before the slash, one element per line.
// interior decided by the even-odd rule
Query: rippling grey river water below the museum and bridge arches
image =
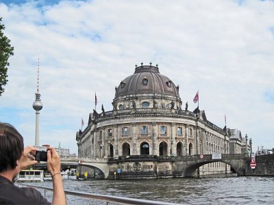
<path fill-rule="evenodd" d="M 52 187 L 51 181 L 32 182 Z M 64 180 L 64 189 L 177 204 L 274 204 L 273 177 Z M 47 191 L 51 201 L 51 191 Z M 105 204 L 66 196 L 68 204 Z"/>

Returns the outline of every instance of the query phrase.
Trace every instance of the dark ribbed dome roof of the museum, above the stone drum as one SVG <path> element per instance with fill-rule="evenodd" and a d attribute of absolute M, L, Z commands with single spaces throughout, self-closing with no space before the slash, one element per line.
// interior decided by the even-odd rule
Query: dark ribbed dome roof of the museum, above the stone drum
<path fill-rule="evenodd" d="M 136 94 L 164 94 L 179 98 L 179 86 L 160 74 L 158 65 L 138 66 L 134 74 L 121 81 L 115 98 Z"/>

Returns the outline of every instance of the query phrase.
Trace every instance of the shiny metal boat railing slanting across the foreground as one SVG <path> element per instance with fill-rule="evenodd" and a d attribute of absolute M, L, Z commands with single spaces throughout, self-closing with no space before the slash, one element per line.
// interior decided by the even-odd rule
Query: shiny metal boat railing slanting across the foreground
<path fill-rule="evenodd" d="M 44 190 L 44 197 L 46 197 L 46 191 L 53 191 L 51 188 L 47 187 L 40 187 L 36 185 L 29 185 L 29 184 L 22 184 L 18 183 L 21 187 L 34 187 L 37 189 L 43 189 Z M 73 195 L 77 197 L 86 197 L 92 200 L 97 200 L 101 202 L 105 202 L 105 204 L 110 205 L 110 202 L 114 204 L 142 204 L 142 205 L 176 205 L 175 203 L 170 202 L 158 202 L 158 201 L 151 201 L 151 200 L 140 200 L 140 199 L 134 199 L 129 197 L 119 197 L 119 196 L 113 196 L 113 195 L 102 195 L 97 193 L 84 193 L 81 191 L 64 191 L 66 195 Z"/>

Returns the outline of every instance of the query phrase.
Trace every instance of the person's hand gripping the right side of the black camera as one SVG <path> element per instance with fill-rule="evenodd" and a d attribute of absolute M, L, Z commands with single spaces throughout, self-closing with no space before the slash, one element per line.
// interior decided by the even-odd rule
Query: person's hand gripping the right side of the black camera
<path fill-rule="evenodd" d="M 56 173 L 60 173 L 61 160 L 54 148 L 47 148 L 47 170 L 53 176 Z"/>

